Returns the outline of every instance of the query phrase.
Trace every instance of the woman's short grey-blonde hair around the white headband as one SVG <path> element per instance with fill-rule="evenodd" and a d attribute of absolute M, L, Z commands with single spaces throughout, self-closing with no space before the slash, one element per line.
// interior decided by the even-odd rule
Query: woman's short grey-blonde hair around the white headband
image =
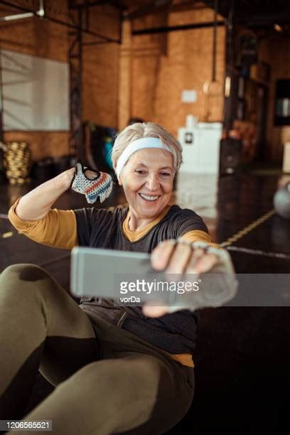
<path fill-rule="evenodd" d="M 143 137 L 157 137 L 161 140 L 162 144 L 168 146 L 173 153 L 173 161 L 176 162 L 174 171 L 177 172 L 182 163 L 182 146 L 171 133 L 154 122 L 136 122 L 135 124 L 128 125 L 117 135 L 112 149 L 114 171 L 116 171 L 117 161 L 124 149 L 132 141 Z"/>

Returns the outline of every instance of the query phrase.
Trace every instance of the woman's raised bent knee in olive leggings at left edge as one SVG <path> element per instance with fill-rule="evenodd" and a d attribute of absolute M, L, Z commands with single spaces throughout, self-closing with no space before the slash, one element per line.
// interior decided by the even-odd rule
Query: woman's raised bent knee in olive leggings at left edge
<path fill-rule="evenodd" d="M 0 275 L 0 419 L 23 417 L 38 367 L 53 385 L 98 358 L 88 316 L 40 267 Z"/>

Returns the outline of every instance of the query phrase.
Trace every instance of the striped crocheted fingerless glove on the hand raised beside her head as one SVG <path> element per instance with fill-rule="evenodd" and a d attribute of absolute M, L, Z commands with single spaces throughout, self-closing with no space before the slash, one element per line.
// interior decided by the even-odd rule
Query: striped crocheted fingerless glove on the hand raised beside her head
<path fill-rule="evenodd" d="M 87 178 L 87 171 L 94 172 L 96 174 L 95 178 Z M 75 192 L 85 195 L 88 203 L 95 203 L 98 197 L 100 198 L 100 203 L 102 203 L 112 192 L 112 186 L 113 181 L 109 173 L 86 168 L 82 166 L 82 163 L 75 165 L 75 176 L 71 188 Z"/>

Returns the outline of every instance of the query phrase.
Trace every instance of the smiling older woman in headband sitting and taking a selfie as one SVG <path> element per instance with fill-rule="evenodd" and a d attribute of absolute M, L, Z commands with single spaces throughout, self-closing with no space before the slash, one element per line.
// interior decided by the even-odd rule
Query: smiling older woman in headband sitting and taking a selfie
<path fill-rule="evenodd" d="M 205 249 L 211 240 L 203 220 L 169 205 L 182 159 L 168 131 L 129 125 L 112 160 L 128 208 L 52 209 L 71 186 L 72 168 L 18 199 L 10 221 L 52 247 L 149 252 L 152 266 L 168 273 L 217 264 L 230 270 L 227 255 Z M 23 416 L 38 368 L 56 388 L 25 421 L 50 419 L 55 434 L 163 434 L 186 414 L 194 392 L 194 306 L 124 307 L 90 297 L 77 305 L 31 264 L 8 267 L 0 285 L 1 419 Z"/>

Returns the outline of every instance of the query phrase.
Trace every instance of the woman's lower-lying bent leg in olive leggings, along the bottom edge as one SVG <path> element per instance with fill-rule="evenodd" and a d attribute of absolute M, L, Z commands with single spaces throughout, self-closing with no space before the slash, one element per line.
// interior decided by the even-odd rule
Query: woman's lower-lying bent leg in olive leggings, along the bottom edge
<path fill-rule="evenodd" d="M 163 434 L 193 399 L 193 390 L 177 382 L 151 355 L 100 360 L 58 385 L 24 421 L 51 419 L 55 435 Z"/>

